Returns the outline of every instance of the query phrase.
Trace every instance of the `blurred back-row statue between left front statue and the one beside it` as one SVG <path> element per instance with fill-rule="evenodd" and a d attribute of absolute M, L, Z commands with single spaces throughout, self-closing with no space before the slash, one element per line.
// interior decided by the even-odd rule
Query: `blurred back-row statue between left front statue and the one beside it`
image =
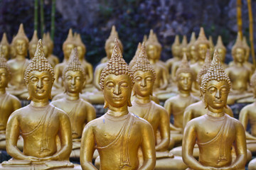
<path fill-rule="evenodd" d="M 55 88 L 57 89 L 63 89 L 63 81 L 62 81 L 62 74 L 63 69 L 68 64 L 68 60 L 70 58 L 71 51 L 75 47 L 75 40 L 73 38 L 72 29 L 68 31 L 68 38 L 63 42 L 63 54 L 64 54 L 64 60 L 63 62 L 55 65 L 54 67 L 54 73 L 55 73 Z"/>

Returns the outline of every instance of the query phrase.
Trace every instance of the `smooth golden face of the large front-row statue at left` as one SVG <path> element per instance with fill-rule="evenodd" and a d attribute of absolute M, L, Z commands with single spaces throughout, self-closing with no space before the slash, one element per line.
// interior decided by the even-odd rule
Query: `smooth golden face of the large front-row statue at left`
<path fill-rule="evenodd" d="M 53 77 L 48 71 L 32 71 L 27 83 L 30 98 L 42 100 L 49 98 L 53 86 Z"/>

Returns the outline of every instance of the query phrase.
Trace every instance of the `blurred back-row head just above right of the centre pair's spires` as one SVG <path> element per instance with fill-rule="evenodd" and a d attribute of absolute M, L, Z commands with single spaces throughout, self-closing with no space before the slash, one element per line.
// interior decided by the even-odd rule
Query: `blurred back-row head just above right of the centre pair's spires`
<path fill-rule="evenodd" d="M 149 38 L 146 40 L 146 55 L 149 60 L 159 60 L 161 54 L 161 45 L 158 42 L 153 30 L 150 30 Z"/>

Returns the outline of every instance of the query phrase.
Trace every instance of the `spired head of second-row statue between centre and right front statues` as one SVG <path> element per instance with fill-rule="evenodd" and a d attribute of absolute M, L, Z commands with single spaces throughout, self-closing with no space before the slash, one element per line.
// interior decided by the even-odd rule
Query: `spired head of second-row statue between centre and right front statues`
<path fill-rule="evenodd" d="M 176 71 L 176 81 L 178 84 L 179 91 L 191 91 L 191 86 L 194 81 L 195 75 L 193 69 L 189 67 L 186 53 L 183 52 L 183 58 L 181 64 Z"/>

